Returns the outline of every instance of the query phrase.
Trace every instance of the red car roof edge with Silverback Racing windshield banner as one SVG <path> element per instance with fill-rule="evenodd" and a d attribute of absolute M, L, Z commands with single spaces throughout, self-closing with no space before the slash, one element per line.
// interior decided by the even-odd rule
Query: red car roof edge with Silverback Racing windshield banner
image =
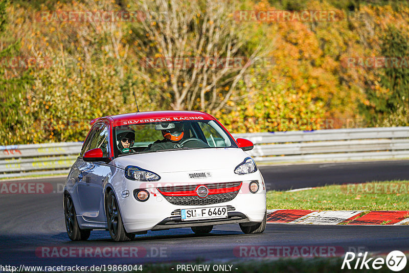
<path fill-rule="evenodd" d="M 175 121 L 175 120 L 214 120 L 215 118 L 208 113 L 201 111 L 149 111 L 126 113 L 122 115 L 104 117 L 112 122 L 113 126 L 147 123 L 156 121 Z M 167 120 L 168 118 L 168 120 Z M 93 120 L 93 123 L 99 119 Z"/>

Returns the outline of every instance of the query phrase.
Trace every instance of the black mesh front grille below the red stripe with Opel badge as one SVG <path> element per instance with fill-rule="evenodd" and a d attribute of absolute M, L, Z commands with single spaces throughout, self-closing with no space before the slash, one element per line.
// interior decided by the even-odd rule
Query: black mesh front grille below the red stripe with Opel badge
<path fill-rule="evenodd" d="M 229 202 L 233 200 L 239 191 L 212 194 L 208 195 L 206 198 L 200 198 L 199 196 L 166 196 L 165 199 L 169 203 L 175 204 L 178 206 L 203 206 L 208 204 L 217 204 L 223 202 Z"/>

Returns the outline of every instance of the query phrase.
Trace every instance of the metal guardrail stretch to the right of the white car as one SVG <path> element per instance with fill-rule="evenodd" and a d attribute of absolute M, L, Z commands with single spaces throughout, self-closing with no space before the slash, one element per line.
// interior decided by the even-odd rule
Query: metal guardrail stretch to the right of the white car
<path fill-rule="evenodd" d="M 235 134 L 254 143 L 256 162 L 375 160 L 409 157 L 409 127 Z"/>

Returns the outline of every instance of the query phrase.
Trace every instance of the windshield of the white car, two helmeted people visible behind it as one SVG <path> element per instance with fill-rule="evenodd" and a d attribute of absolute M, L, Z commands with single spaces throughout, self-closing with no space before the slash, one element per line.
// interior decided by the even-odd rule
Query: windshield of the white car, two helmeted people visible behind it
<path fill-rule="evenodd" d="M 190 150 L 238 148 L 214 120 L 172 121 L 115 127 L 115 155 Z"/>

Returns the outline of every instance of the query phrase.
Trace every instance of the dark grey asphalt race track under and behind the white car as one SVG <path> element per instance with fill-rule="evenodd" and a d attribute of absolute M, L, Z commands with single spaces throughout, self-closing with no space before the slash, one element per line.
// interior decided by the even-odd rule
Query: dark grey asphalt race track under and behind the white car
<path fill-rule="evenodd" d="M 409 179 L 409 161 L 308 164 L 260 167 L 271 188 L 289 189 L 333 183 Z M 43 178 L 57 189 L 48 194 L 0 195 L 0 265 L 99 265 L 198 260 L 234 264 L 248 259 L 240 246 L 334 246 L 337 254 L 360 249 L 372 253 L 409 251 L 409 226 L 312 226 L 267 224 L 262 234 L 244 235 L 238 224 L 215 226 L 209 235 L 190 229 L 148 232 L 134 241 L 112 242 L 106 231 L 94 231 L 88 241 L 72 242 L 66 235 L 59 185 L 64 178 Z M 37 179 L 25 180 L 39 181 Z M 314 183 L 315 181 L 315 183 Z M 49 258 L 50 249 L 76 249 L 72 257 Z M 78 254 L 93 247 L 93 257 Z M 95 249 L 138 247 L 138 258 L 99 258 Z M 340 251 L 339 251 L 340 249 Z M 247 252 L 249 254 L 249 252 Z M 66 254 L 66 253 L 64 253 Z M 59 257 L 58 257 L 59 256 Z M 80 256 L 80 257 L 79 257 Z M 127 253 L 120 256 L 127 256 Z M 261 254 L 260 257 L 263 257 Z M 176 271 L 176 270 L 175 270 Z"/>

